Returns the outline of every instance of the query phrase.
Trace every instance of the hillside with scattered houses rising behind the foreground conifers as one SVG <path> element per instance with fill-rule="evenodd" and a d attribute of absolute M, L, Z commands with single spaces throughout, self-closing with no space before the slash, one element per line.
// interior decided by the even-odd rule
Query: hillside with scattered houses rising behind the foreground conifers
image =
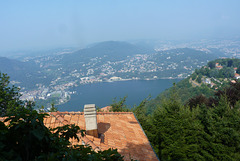
<path fill-rule="evenodd" d="M 235 83 L 240 74 L 240 59 L 216 59 L 208 62 L 207 65 L 196 69 L 186 79 L 174 84 L 174 87 L 159 94 L 155 99 L 149 101 L 146 106 L 148 113 L 152 113 L 159 106 L 163 98 L 169 98 L 170 91 L 178 93 L 183 104 L 189 98 L 204 95 L 213 96 L 217 89 L 228 87 L 229 83 Z"/>

